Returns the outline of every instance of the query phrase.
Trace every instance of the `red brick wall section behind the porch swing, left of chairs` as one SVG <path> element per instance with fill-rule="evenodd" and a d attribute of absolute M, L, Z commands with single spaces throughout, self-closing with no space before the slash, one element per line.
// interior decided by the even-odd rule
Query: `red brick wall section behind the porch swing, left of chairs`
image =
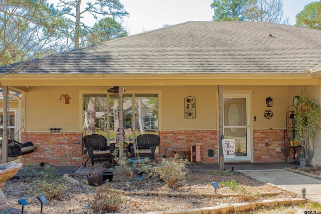
<path fill-rule="evenodd" d="M 22 156 L 25 164 L 81 165 L 88 157 L 82 155 L 82 132 L 27 132 L 27 135 L 37 151 Z M 22 138 L 27 141 L 25 135 Z"/>

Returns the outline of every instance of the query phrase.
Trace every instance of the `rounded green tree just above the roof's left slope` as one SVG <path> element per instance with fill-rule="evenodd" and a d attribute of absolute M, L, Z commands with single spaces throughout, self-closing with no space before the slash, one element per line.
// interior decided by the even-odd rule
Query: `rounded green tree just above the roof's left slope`
<path fill-rule="evenodd" d="M 113 40 L 128 35 L 121 24 L 116 20 L 108 17 L 100 20 L 93 27 L 93 31 L 88 35 L 89 44 L 97 44 L 107 40 Z"/>

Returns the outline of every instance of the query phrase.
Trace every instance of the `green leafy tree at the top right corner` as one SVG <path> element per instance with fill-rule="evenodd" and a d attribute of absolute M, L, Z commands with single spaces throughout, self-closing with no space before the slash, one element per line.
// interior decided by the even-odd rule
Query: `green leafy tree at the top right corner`
<path fill-rule="evenodd" d="M 295 26 L 321 30 L 321 1 L 306 5 L 296 15 Z"/>

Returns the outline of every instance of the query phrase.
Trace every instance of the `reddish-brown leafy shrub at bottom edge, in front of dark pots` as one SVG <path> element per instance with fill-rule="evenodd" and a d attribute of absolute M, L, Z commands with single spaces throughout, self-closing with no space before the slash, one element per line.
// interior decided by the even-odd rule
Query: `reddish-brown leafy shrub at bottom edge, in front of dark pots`
<path fill-rule="evenodd" d="M 88 200 L 88 205 L 94 213 L 115 212 L 120 209 L 124 202 L 122 194 L 111 189 L 110 184 L 103 187 L 98 187 L 98 190 L 93 193 L 92 199 Z"/>

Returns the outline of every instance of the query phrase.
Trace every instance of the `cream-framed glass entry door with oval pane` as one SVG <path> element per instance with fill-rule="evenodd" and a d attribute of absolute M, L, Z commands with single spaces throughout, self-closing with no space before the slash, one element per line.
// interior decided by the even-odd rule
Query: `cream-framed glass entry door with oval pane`
<path fill-rule="evenodd" d="M 226 161 L 251 160 L 249 95 L 223 95 L 224 139 L 235 140 L 235 158 Z"/>

